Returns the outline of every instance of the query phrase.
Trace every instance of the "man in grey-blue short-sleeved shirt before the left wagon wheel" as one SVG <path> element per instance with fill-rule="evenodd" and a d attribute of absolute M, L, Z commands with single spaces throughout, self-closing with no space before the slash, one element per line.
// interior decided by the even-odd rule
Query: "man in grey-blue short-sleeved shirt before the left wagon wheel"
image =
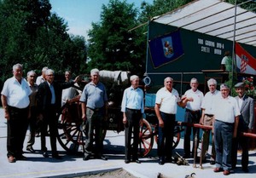
<path fill-rule="evenodd" d="M 90 71 L 90 83 L 84 87 L 80 101 L 82 102 L 82 119 L 85 121 L 87 128 L 87 139 L 84 146 L 84 161 L 88 160 L 93 150 L 93 130 L 95 129 L 96 158 L 107 160 L 102 155 L 103 151 L 103 124 L 104 118 L 108 116 L 108 97 L 103 83 L 101 83 L 99 70 Z"/>

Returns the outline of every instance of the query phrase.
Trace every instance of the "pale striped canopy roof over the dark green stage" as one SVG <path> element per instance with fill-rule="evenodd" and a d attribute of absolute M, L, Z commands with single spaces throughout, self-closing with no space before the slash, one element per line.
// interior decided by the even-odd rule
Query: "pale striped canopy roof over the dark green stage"
<path fill-rule="evenodd" d="M 256 14 L 221 0 L 196 0 L 152 21 L 256 47 Z"/>

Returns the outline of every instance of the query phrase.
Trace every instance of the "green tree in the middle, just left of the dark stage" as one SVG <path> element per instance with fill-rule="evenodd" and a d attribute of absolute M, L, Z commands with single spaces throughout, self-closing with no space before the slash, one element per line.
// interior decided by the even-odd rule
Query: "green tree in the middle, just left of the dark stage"
<path fill-rule="evenodd" d="M 92 23 L 89 32 L 88 70 L 121 70 L 134 73 L 144 72 L 146 59 L 146 35 L 138 26 L 138 9 L 126 1 L 110 0 L 102 6 L 101 21 Z"/>

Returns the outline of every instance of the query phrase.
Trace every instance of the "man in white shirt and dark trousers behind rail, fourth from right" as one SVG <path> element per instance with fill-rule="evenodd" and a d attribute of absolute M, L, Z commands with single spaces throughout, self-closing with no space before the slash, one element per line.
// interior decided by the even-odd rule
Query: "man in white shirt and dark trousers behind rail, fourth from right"
<path fill-rule="evenodd" d="M 185 123 L 199 123 L 201 118 L 201 102 L 204 97 L 203 93 L 197 89 L 198 81 L 196 78 L 191 78 L 190 87 L 184 94 L 189 99 L 186 105 L 186 112 L 184 116 Z M 193 128 L 193 146 L 192 155 L 190 155 L 190 135 L 191 127 L 186 126 L 184 129 L 184 155 L 183 158 L 194 158 L 197 156 L 197 147 L 195 147 L 195 139 L 197 140 L 197 146 L 199 142 L 199 129 Z M 195 138 L 196 137 L 196 138 Z M 194 157 L 193 157 L 194 155 Z"/>

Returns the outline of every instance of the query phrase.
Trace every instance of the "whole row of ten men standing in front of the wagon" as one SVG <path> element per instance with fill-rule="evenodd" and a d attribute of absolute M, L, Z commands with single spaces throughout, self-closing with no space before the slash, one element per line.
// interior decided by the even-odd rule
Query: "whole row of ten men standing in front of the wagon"
<path fill-rule="evenodd" d="M 43 69 L 44 70 L 44 69 Z M 34 78 L 36 73 L 27 72 L 27 81 L 22 78 L 23 68 L 20 64 L 13 66 L 13 78 L 9 78 L 3 85 L 2 104 L 5 118 L 8 123 L 7 157 L 10 163 L 24 160 L 23 142 L 26 136 L 28 123 L 31 118 L 38 118 L 43 122 L 41 127 L 41 150 L 44 157 L 49 157 L 45 146 L 45 136 L 49 127 L 49 138 L 53 158 L 60 158 L 56 149 L 57 123 L 56 112 L 61 108 L 61 92 L 78 82 L 79 78 L 56 83 L 55 72 L 45 69 L 45 76 L 38 78 L 38 88 L 35 89 Z M 103 135 L 102 124 L 108 116 L 108 96 L 103 83 L 99 82 L 99 70 L 90 71 L 91 82 L 86 84 L 81 93 L 82 119 L 86 125 L 87 139 L 84 146 L 84 160 L 92 155 L 107 160 L 102 155 Z M 139 127 L 144 112 L 143 89 L 140 89 L 139 78 L 131 76 L 131 87 L 125 89 L 121 104 L 123 123 L 125 124 L 125 164 L 140 163 L 137 157 L 139 143 Z M 185 108 L 185 123 L 201 123 L 212 126 L 203 130 L 201 157 L 205 159 L 212 133 L 211 164 L 216 163 L 214 172 L 224 171 L 230 175 L 230 170 L 236 168 L 237 146 L 242 148 L 242 169 L 248 171 L 248 139 L 241 136 L 241 132 L 251 132 L 254 124 L 253 99 L 245 95 L 243 83 L 235 85 L 237 96 L 230 96 L 230 88 L 226 84 L 220 85 L 217 90 L 217 81 L 213 78 L 207 81 L 209 91 L 206 95 L 198 89 L 196 78 L 190 80 L 191 89 L 180 97 L 173 89 L 173 79 L 165 78 L 164 87 L 156 93 L 154 111 L 159 121 L 158 155 L 159 164 L 172 163 L 172 141 L 176 121 L 177 106 Z M 35 90 L 37 90 L 35 92 Z M 33 109 L 37 105 L 37 111 Z M 29 119 L 27 119 L 29 118 Z M 34 128 L 34 127 L 31 127 Z M 93 134 L 95 131 L 96 149 L 93 149 Z M 192 154 L 190 152 L 190 135 L 193 129 Z M 32 133 L 35 130 L 31 130 Z M 34 134 L 32 134 L 34 135 Z M 131 139 L 133 144 L 131 145 Z M 195 142 L 197 141 L 197 143 Z M 197 155 L 199 129 L 187 125 L 184 131 L 183 158 Z M 31 137 L 26 147 L 32 151 L 34 138 Z M 31 144 L 31 145 L 30 145 Z M 94 154 L 92 152 L 94 151 Z M 195 158 L 195 157 L 194 157 Z"/>

